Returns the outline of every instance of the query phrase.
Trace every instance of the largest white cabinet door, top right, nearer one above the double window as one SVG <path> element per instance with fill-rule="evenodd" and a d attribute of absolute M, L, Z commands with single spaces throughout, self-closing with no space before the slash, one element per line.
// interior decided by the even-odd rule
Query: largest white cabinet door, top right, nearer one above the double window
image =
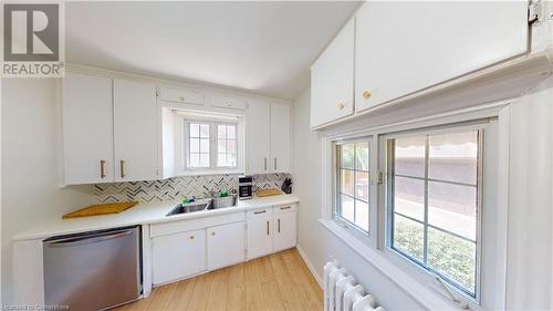
<path fill-rule="evenodd" d="M 365 2 L 356 15 L 355 110 L 525 53 L 526 10 L 528 1 Z"/>

